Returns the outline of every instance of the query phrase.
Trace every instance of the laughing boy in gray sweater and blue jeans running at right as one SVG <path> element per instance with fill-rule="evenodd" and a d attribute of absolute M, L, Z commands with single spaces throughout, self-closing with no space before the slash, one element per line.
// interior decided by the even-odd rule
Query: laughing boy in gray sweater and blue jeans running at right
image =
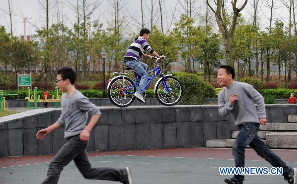
<path fill-rule="evenodd" d="M 218 70 L 217 80 L 221 86 L 225 86 L 218 95 L 219 114 L 225 117 L 232 113 L 235 125 L 240 129 L 232 148 L 235 167 L 245 167 L 245 148 L 249 145 L 273 167 L 283 168 L 283 175 L 289 184 L 296 184 L 296 168 L 288 167 L 258 136 L 260 123 L 265 125 L 267 121 L 262 95 L 251 85 L 236 82 L 234 78 L 235 71 L 232 67 L 223 65 Z M 244 179 L 244 175 L 234 175 L 224 181 L 227 184 L 243 184 Z"/>

